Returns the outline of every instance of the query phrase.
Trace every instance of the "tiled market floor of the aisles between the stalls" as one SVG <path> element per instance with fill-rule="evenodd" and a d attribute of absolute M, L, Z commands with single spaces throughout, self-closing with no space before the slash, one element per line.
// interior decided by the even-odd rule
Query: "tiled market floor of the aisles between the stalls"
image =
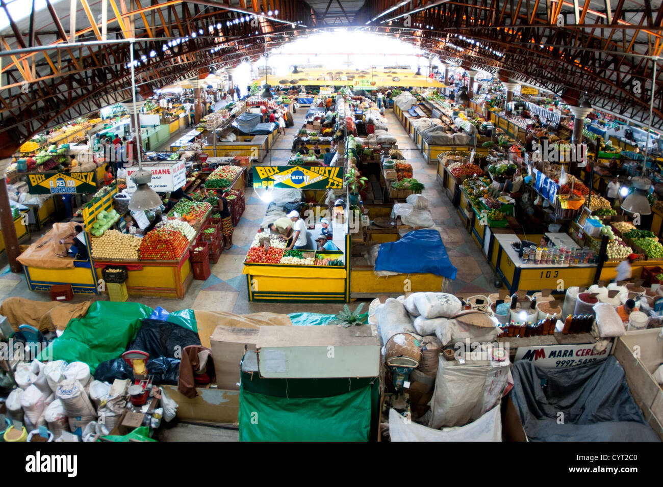
<path fill-rule="evenodd" d="M 276 140 L 272 157 L 267 156 L 263 164 L 285 164 L 290 154 L 292 140 L 302 126 L 306 109 L 301 109 L 294 115 L 294 127 L 286 129 L 286 135 Z M 450 259 L 458 268 L 457 279 L 452 282 L 452 291 L 462 296 L 471 296 L 477 293 L 494 292 L 493 271 L 481 250 L 472 241 L 469 233 L 465 231 L 457 212 L 442 188 L 436 182 L 436 166 L 424 163 L 420 152 L 416 150 L 414 142 L 404 131 L 402 125 L 394 114 L 387 112 L 389 132 L 396 136 L 398 146 L 406 150 L 406 156 L 414 168 L 414 177 L 426 185 L 423 194 L 430 199 L 430 209 L 436 225 L 441 229 L 444 242 Z M 161 305 L 168 311 L 176 309 L 207 309 L 214 311 L 232 311 L 237 314 L 255 313 L 259 311 L 273 311 L 276 313 L 291 313 L 296 311 L 333 313 L 338 305 L 314 303 L 250 303 L 247 299 L 247 284 L 242 274 L 242 262 L 255 237 L 255 233 L 265 215 L 267 204 L 258 197 L 254 197 L 253 189 L 247 188 L 247 209 L 241 218 L 233 235 L 233 248 L 221 254 L 219 262 L 211 267 L 211 276 L 206 281 L 194 280 L 184 299 L 160 298 L 130 298 L 131 301 L 140 301 L 151 307 Z M 11 274 L 7 266 L 7 259 L 0 256 L 0 302 L 9 296 L 47 301 L 46 293 L 30 292 L 27 289 L 23 274 Z M 86 297 L 76 296 L 74 302 L 84 301 Z M 95 299 L 107 299 L 105 296 Z"/>

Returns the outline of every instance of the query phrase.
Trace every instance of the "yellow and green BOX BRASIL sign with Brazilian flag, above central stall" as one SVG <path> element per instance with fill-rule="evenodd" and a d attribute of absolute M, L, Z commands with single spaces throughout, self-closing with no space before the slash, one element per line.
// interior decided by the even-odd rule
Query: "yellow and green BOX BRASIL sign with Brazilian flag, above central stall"
<path fill-rule="evenodd" d="M 253 188 L 341 189 L 343 168 L 304 166 L 257 166 Z"/>

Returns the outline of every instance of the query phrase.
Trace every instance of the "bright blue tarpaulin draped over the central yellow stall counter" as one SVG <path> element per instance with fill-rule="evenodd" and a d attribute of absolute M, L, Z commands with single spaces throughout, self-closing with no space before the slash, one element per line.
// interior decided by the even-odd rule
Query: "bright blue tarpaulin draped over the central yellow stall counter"
<path fill-rule="evenodd" d="M 383 243 L 375 260 L 375 270 L 391 272 L 430 272 L 448 279 L 455 279 L 453 266 L 440 232 L 424 229 L 414 230 L 396 242 Z"/>

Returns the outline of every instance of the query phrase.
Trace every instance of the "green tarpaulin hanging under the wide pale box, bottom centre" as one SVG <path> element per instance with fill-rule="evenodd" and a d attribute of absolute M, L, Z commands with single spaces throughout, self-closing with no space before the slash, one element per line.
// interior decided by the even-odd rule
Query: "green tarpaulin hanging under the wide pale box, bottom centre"
<path fill-rule="evenodd" d="M 371 386 L 328 398 L 239 392 L 239 441 L 368 441 Z"/>

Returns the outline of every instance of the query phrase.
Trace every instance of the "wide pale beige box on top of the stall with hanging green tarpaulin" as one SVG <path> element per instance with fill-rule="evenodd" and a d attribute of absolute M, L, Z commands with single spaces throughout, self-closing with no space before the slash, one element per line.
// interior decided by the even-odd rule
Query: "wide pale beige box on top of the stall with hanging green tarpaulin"
<path fill-rule="evenodd" d="M 377 377 L 380 372 L 374 325 L 260 327 L 257 350 L 259 372 L 266 378 Z"/>

